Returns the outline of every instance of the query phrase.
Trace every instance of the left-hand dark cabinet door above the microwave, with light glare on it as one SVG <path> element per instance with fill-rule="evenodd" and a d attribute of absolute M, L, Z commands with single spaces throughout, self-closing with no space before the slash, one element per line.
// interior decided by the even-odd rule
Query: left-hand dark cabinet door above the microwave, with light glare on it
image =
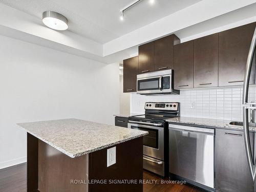
<path fill-rule="evenodd" d="M 154 71 L 154 41 L 139 46 L 139 73 Z"/>

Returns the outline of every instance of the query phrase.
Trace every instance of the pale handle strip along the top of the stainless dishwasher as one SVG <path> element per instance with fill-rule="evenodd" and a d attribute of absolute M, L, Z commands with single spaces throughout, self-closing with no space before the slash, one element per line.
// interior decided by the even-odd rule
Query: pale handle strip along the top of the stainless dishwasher
<path fill-rule="evenodd" d="M 169 124 L 169 130 L 215 135 L 215 129 L 198 127 L 198 126 Z"/>

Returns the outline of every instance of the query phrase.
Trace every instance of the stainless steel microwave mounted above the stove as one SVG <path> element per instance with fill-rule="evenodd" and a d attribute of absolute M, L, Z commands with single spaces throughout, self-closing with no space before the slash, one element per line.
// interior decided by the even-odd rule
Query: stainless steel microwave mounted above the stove
<path fill-rule="evenodd" d="M 173 89 L 173 70 L 163 70 L 137 75 L 137 94 L 180 94 Z"/>

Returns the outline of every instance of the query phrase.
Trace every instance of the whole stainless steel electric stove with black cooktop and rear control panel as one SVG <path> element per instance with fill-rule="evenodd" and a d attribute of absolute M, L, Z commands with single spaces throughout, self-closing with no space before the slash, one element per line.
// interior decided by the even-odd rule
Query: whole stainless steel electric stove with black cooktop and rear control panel
<path fill-rule="evenodd" d="M 180 115 L 178 102 L 146 102 L 145 114 L 128 118 L 128 127 L 147 131 L 143 136 L 143 168 L 162 177 L 168 175 L 168 123 Z"/>

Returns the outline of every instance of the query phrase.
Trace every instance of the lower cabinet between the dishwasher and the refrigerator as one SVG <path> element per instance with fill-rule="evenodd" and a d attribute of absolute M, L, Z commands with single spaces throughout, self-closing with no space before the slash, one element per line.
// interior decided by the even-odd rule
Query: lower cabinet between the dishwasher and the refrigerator
<path fill-rule="evenodd" d="M 245 152 L 244 133 L 216 129 L 215 139 L 217 192 L 253 191 L 253 181 Z"/>

